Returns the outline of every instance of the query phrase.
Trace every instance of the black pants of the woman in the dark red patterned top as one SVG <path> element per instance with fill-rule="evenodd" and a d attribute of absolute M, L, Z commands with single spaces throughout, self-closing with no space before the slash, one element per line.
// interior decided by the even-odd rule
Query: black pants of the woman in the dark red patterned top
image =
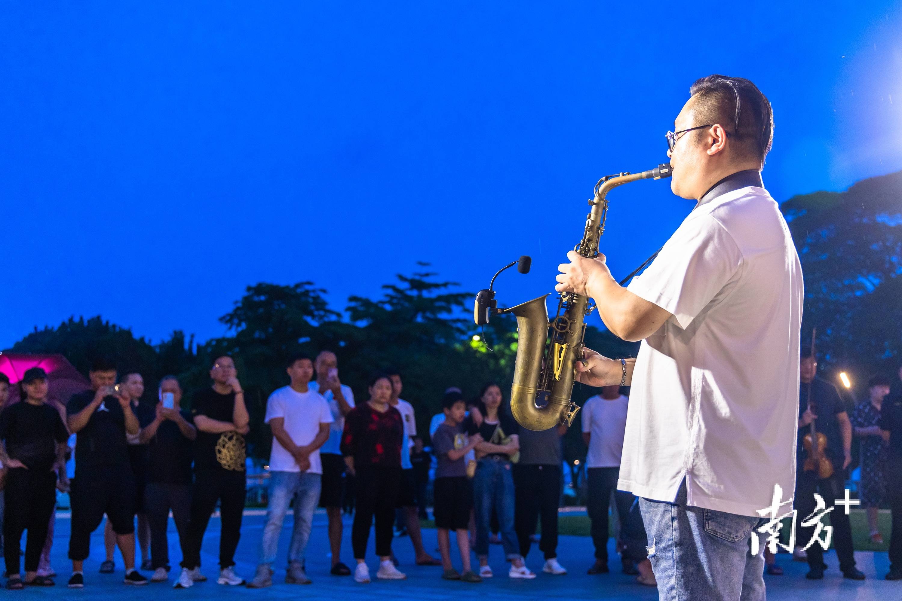
<path fill-rule="evenodd" d="M 376 555 L 387 557 L 391 555 L 391 524 L 394 522 L 395 505 L 398 502 L 400 466 L 362 466 L 356 471 L 357 498 L 354 525 L 351 528 L 354 559 L 363 560 L 366 556 L 373 516 L 376 521 Z"/>

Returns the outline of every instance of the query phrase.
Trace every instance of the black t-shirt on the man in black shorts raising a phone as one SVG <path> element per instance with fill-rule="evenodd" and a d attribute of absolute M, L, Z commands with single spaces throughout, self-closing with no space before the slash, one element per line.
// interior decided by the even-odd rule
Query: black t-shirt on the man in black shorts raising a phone
<path fill-rule="evenodd" d="M 72 395 L 66 414 L 72 416 L 91 404 L 95 392 L 86 390 Z M 75 469 L 101 465 L 128 465 L 125 441 L 125 414 L 115 396 L 106 396 L 87 425 L 78 431 L 75 441 Z"/>

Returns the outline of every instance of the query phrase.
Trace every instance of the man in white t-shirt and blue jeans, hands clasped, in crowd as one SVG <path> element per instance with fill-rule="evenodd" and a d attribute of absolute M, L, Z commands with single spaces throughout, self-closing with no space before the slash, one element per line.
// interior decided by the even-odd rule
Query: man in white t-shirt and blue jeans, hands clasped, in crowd
<path fill-rule="evenodd" d="M 266 402 L 266 423 L 272 428 L 270 455 L 270 495 L 266 525 L 260 541 L 260 563 L 249 588 L 272 586 L 272 562 L 279 549 L 282 521 L 294 499 L 294 529 L 288 551 L 289 584 L 310 584 L 304 569 L 304 551 L 313 526 L 313 512 L 319 503 L 323 464 L 319 448 L 329 438 L 334 421 L 326 399 L 310 390 L 313 361 L 295 355 L 285 369 L 291 379 Z"/>

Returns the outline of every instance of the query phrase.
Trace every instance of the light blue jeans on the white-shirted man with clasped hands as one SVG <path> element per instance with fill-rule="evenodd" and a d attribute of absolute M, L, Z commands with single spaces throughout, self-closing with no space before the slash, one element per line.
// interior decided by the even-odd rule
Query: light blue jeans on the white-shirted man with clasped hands
<path fill-rule="evenodd" d="M 260 565 L 272 568 L 279 549 L 279 534 L 288 505 L 294 498 L 294 530 L 288 548 L 288 562 L 304 562 L 310 539 L 313 512 L 319 503 L 322 477 L 298 471 L 273 471 L 270 475 L 270 502 L 266 506 L 266 525 L 260 542 Z"/>

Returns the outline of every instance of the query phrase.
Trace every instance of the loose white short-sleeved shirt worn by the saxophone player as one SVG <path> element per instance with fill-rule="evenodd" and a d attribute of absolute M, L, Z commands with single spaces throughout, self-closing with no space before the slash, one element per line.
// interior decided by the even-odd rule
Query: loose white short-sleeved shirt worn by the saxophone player
<path fill-rule="evenodd" d="M 761 187 L 697 205 L 630 292 L 673 316 L 642 341 L 618 488 L 758 516 L 796 483 L 802 269 Z"/>

